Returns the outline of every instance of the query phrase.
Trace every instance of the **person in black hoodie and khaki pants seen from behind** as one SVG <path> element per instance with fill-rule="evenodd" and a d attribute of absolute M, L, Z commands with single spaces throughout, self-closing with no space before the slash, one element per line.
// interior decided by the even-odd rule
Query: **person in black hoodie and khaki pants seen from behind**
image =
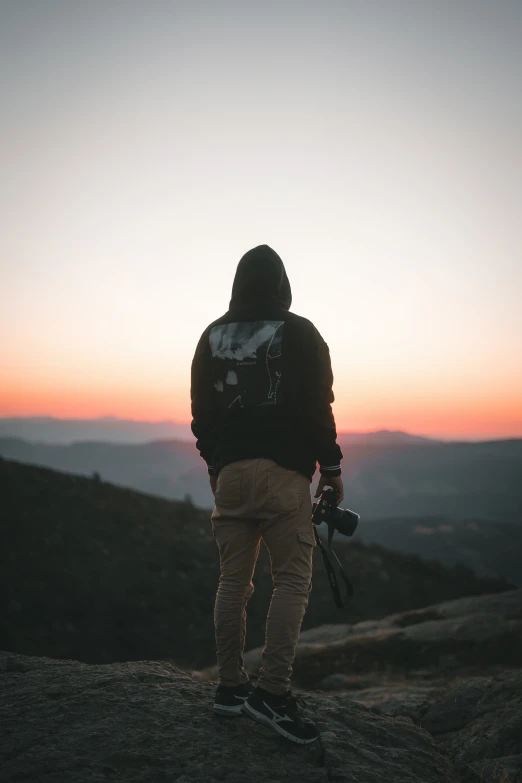
<path fill-rule="evenodd" d="M 326 295 L 327 292 L 325 292 Z M 321 291 L 318 291 L 321 296 Z M 192 432 L 215 497 L 220 558 L 214 606 L 218 687 L 214 711 L 244 712 L 296 743 L 318 737 L 290 678 L 312 587 L 310 483 L 343 499 L 328 346 L 290 310 L 291 288 L 267 245 L 240 260 L 228 312 L 203 332 L 192 362 Z M 261 539 L 273 593 L 257 687 L 244 668 L 246 605 Z"/>

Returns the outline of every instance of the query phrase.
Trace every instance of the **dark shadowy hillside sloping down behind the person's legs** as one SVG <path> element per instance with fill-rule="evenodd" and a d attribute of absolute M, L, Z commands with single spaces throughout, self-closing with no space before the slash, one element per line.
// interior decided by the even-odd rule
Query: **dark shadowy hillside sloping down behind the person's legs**
<path fill-rule="evenodd" d="M 1 648 L 89 662 L 213 663 L 218 556 L 208 512 L 3 459 L 0 507 Z M 315 555 L 305 629 L 507 586 L 355 540 L 346 559 L 356 596 L 340 611 Z M 271 592 L 264 548 L 255 584 L 249 647 L 262 644 Z"/>

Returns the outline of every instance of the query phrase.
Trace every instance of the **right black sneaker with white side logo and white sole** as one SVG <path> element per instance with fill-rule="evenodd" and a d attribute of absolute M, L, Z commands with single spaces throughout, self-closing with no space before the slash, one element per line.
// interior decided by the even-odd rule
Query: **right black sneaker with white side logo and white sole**
<path fill-rule="evenodd" d="M 258 686 L 243 703 L 243 712 L 292 742 L 307 745 L 319 737 L 319 732 L 314 723 L 301 718 L 298 704 L 304 706 L 304 699 L 291 691 L 276 696 Z"/>

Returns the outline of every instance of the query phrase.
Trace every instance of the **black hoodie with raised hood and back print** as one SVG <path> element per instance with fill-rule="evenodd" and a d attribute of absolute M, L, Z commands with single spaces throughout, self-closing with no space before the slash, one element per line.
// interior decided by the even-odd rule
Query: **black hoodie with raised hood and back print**
<path fill-rule="evenodd" d="M 240 260 L 228 312 L 210 324 L 192 362 L 192 432 L 218 474 L 265 457 L 310 478 L 339 476 L 328 346 L 315 326 L 289 312 L 285 267 L 268 245 Z"/>

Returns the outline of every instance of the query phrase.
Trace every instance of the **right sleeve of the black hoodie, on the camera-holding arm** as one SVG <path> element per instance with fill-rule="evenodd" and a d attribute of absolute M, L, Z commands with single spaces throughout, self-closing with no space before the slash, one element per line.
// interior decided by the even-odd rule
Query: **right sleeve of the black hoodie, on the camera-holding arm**
<path fill-rule="evenodd" d="M 341 475 L 343 454 L 337 444 L 332 411 L 333 373 L 330 351 L 317 329 L 311 336 L 311 367 L 308 373 L 308 422 L 314 451 L 323 476 Z"/>

